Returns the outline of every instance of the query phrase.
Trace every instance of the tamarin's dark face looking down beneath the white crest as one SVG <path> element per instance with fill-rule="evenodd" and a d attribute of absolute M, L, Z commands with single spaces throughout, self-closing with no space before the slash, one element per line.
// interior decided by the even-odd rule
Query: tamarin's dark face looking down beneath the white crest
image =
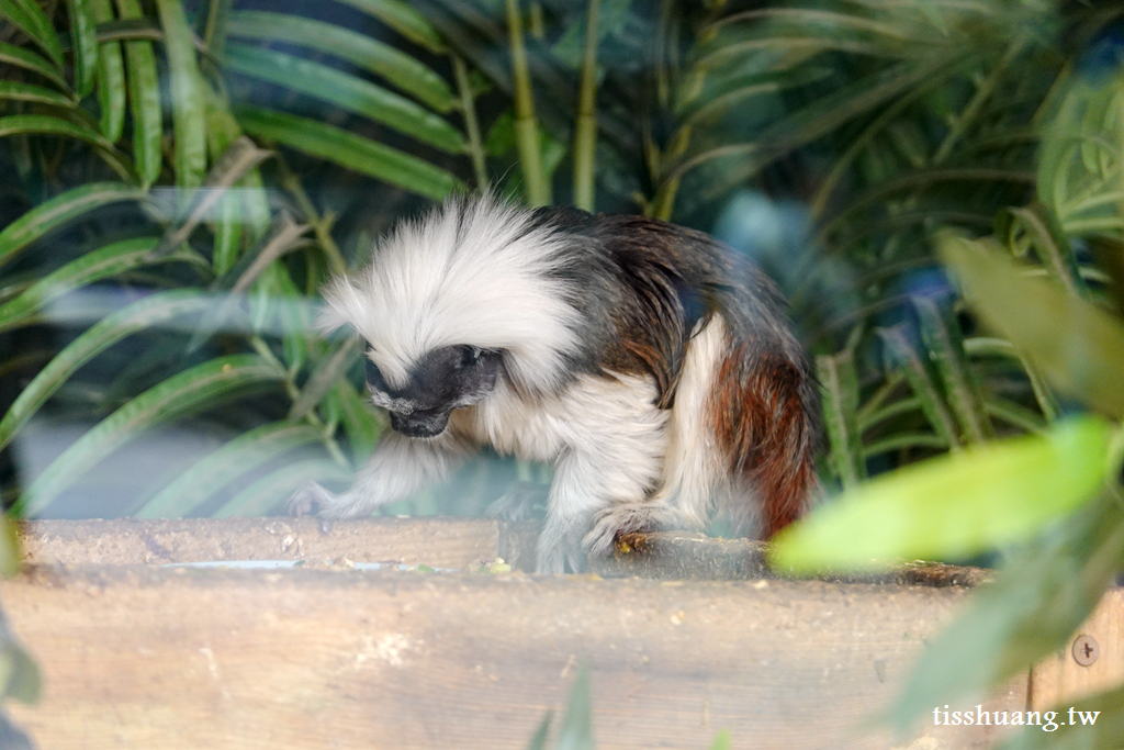
<path fill-rule="evenodd" d="M 390 413 L 390 426 L 409 437 L 436 437 L 448 425 L 450 413 L 481 400 L 496 387 L 502 368 L 499 352 L 477 346 L 443 346 L 423 356 L 409 381 L 391 389 L 379 368 L 366 360 L 371 400 Z"/>

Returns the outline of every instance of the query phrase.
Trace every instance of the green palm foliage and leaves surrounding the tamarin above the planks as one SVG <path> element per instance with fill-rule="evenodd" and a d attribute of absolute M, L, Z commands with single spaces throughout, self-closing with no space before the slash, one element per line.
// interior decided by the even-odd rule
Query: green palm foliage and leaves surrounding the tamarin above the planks
<path fill-rule="evenodd" d="M 960 625 L 990 640 L 934 647 L 899 720 L 996 684 L 1124 555 L 1122 12 L 0 0 L 4 505 L 262 514 L 346 484 L 382 425 L 357 346 L 307 333 L 328 275 L 460 189 L 642 211 L 754 257 L 816 354 L 823 475 L 855 494 L 800 532 L 846 544 L 787 563 L 1015 560 Z M 388 512 L 543 479 L 466 472 Z"/>

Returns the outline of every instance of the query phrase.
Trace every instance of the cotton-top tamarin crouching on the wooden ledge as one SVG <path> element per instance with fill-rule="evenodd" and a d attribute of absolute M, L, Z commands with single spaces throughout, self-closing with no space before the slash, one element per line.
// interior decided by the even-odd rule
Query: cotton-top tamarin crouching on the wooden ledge
<path fill-rule="evenodd" d="M 370 514 L 488 443 L 554 466 L 538 570 L 724 510 L 769 537 L 816 484 L 818 397 L 772 282 L 705 234 L 640 216 L 459 198 L 325 290 L 390 415 L 354 486 L 293 513 Z"/>

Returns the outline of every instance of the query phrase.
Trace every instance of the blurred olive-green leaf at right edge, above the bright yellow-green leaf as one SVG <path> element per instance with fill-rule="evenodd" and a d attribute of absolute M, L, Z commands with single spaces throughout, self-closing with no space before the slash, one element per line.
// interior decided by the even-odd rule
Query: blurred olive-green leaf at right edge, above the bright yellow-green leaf
<path fill-rule="evenodd" d="M 945 262 L 984 319 L 1058 390 L 1124 418 L 1124 326 L 1059 284 L 1034 279 L 992 243 L 939 240 Z"/>

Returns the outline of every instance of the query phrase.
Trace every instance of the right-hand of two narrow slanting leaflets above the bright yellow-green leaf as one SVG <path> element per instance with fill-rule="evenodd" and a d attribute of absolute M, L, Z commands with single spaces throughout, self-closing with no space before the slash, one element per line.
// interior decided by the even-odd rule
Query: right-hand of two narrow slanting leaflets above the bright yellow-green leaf
<path fill-rule="evenodd" d="M 936 363 L 952 413 L 957 415 L 968 442 L 978 443 L 995 437 L 995 428 L 984 410 L 984 399 L 964 354 L 959 324 L 950 320 L 932 299 L 915 297 L 913 305 L 921 320 L 921 335 L 930 359 Z"/>

